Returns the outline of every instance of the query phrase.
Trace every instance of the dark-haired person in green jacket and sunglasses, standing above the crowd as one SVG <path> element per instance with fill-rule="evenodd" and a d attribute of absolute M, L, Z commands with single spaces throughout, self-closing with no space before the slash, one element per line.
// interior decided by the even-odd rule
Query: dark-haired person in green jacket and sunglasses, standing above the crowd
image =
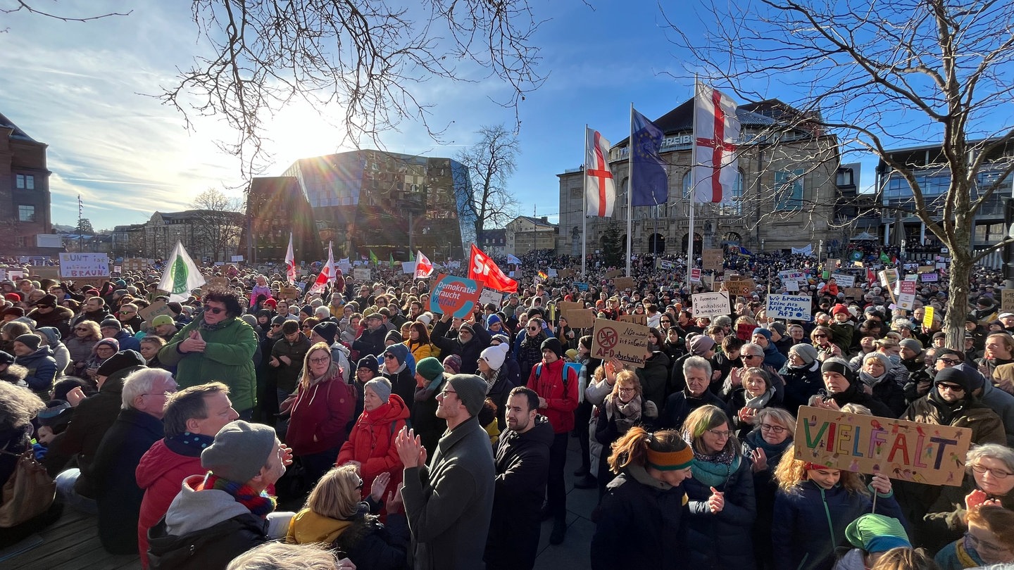
<path fill-rule="evenodd" d="M 226 384 L 239 419 L 249 420 L 257 398 L 254 353 L 258 335 L 240 314 L 234 293 L 209 291 L 204 312 L 172 336 L 158 352 L 158 360 L 176 367 L 179 389 L 211 381 Z"/>

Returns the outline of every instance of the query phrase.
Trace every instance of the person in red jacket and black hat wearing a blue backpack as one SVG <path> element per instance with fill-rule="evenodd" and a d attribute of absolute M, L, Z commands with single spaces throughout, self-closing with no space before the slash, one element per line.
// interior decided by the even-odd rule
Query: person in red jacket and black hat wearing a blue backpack
<path fill-rule="evenodd" d="M 531 368 L 528 387 L 538 395 L 538 413 L 553 426 L 553 446 L 550 447 L 550 476 L 547 512 L 554 518 L 550 544 L 559 545 L 567 536 L 567 488 L 564 467 L 567 462 L 568 434 L 574 429 L 577 409 L 577 372 L 564 366 L 564 349 L 560 339 L 542 341 L 542 361 Z"/>

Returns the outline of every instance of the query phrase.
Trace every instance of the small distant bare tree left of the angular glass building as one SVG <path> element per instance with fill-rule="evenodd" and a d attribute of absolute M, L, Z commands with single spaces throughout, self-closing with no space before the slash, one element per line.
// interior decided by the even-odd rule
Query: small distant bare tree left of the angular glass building
<path fill-rule="evenodd" d="M 211 252 L 212 261 L 228 261 L 236 252 L 243 226 L 243 200 L 229 198 L 219 190 L 208 189 L 194 199 L 194 244 Z"/>

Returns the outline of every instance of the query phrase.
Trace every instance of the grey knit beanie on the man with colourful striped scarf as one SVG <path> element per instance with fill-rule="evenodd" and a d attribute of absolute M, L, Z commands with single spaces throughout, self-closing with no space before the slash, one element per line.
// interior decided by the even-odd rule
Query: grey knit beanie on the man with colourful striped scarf
<path fill-rule="evenodd" d="M 229 422 L 201 452 L 201 467 L 222 479 L 246 483 L 268 464 L 275 439 L 275 430 L 266 425 Z"/>

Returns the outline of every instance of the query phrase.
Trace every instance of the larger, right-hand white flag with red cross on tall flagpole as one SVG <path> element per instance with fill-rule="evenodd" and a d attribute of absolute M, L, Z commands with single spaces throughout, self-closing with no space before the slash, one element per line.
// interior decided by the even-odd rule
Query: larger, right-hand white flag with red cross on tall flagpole
<path fill-rule="evenodd" d="M 697 202 L 722 202 L 732 197 L 732 188 L 739 176 L 736 102 L 703 83 L 697 84 L 696 91 L 694 199 Z"/>

